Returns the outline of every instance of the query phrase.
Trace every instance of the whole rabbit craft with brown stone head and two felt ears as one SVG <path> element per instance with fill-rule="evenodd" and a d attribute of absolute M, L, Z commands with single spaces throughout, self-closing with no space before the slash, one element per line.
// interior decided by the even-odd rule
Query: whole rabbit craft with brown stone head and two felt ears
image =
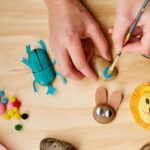
<path fill-rule="evenodd" d="M 106 88 L 99 87 L 95 94 L 96 106 L 93 110 L 94 119 L 101 124 L 112 122 L 116 117 L 116 112 L 122 99 L 123 95 L 121 92 L 115 91 L 108 98 Z"/>

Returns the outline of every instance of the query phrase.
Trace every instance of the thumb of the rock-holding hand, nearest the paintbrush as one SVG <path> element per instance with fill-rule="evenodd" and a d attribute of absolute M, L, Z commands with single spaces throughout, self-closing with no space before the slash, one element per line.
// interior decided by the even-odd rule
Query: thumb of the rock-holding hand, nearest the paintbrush
<path fill-rule="evenodd" d="M 100 55 L 106 60 L 110 61 L 111 55 L 108 51 L 108 43 L 99 25 L 97 25 L 97 23 L 93 23 L 92 25 L 89 26 L 87 33 L 88 36 L 93 41 L 93 43 L 95 44 L 96 48 L 98 49 Z"/>

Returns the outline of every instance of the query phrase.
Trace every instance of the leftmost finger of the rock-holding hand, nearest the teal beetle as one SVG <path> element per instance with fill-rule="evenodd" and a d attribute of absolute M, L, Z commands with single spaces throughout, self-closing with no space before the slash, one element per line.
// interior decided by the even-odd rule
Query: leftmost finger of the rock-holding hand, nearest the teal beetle
<path fill-rule="evenodd" d="M 83 78 L 83 75 L 73 66 L 71 58 L 65 48 L 55 49 L 55 51 L 53 50 L 53 54 L 58 62 L 61 73 L 65 77 L 75 80 L 81 80 Z"/>

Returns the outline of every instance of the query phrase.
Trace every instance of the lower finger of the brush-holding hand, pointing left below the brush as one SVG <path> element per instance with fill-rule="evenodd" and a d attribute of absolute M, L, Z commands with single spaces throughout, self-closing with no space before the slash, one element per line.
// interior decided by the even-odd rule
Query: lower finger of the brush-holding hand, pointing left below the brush
<path fill-rule="evenodd" d="M 150 55 L 150 32 L 143 35 L 141 41 L 135 43 L 129 43 L 124 48 L 123 51 L 133 53 L 133 54 L 143 54 Z"/>

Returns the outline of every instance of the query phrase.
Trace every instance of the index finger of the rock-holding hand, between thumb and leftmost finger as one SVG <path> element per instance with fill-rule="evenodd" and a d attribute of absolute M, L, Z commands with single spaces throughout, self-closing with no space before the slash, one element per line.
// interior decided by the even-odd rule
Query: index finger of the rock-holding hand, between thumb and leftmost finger
<path fill-rule="evenodd" d="M 76 69 L 80 71 L 84 76 L 96 80 L 97 75 L 91 69 L 86 60 L 80 38 L 74 36 L 71 41 L 66 43 L 66 45 L 68 46 L 68 52 Z"/>

